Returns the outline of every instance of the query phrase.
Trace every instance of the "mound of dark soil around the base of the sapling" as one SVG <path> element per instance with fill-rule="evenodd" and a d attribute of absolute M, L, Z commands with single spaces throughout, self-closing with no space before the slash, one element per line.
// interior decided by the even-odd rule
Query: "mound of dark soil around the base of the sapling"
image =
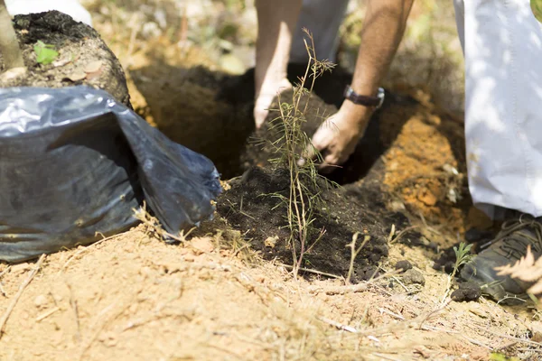
<path fill-rule="evenodd" d="M 287 196 L 289 173 L 283 169 L 254 167 L 242 177 L 230 182 L 231 190 L 226 191 L 218 201 L 218 212 L 226 218 L 231 227 L 241 230 L 251 239 L 254 249 L 261 251 L 265 259 L 278 258 L 285 264 L 292 264 L 292 247 L 285 219 L 286 208 L 276 194 Z M 319 230 L 325 229 L 322 238 L 304 256 L 303 266 L 325 273 L 345 276 L 350 265 L 350 248 L 347 247 L 356 232 L 369 235 L 370 241 L 356 258 L 353 282 L 369 279 L 377 271 L 375 265 L 388 255 L 389 225 L 407 223 L 400 214 L 378 209 L 382 203 L 378 192 L 368 189 L 369 201 L 361 203 L 348 189 L 323 192 L 326 209 L 318 209 L 313 224 L 313 240 Z M 278 237 L 273 245 L 266 239 Z M 359 237 L 359 243 L 363 237 Z M 294 240 L 297 255 L 300 243 Z M 311 244 L 306 245 L 311 248 Z"/>

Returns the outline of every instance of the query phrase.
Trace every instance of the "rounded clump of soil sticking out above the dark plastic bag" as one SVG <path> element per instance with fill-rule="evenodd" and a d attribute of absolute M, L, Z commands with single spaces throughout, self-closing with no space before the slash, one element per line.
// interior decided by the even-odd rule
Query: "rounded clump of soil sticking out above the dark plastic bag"
<path fill-rule="evenodd" d="M 29 71 L 25 77 L 2 84 L 2 87 L 62 88 L 84 84 L 104 89 L 119 102 L 130 106 L 124 71 L 115 54 L 91 27 L 75 22 L 67 14 L 51 11 L 16 15 L 14 29 Z M 57 60 L 60 63 L 38 63 L 33 50 L 38 41 L 54 46 L 59 52 Z M 4 62 L 0 54 L 2 71 Z"/>

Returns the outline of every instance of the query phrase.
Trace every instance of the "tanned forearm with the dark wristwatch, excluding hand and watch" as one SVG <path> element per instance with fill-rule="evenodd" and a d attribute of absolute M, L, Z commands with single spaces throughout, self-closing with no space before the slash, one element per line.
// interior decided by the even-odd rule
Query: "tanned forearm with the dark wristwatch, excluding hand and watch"
<path fill-rule="evenodd" d="M 414 0 L 369 0 L 361 31 L 361 45 L 352 79 L 352 89 L 361 95 L 376 96 L 389 65 L 403 38 L 406 19 Z M 346 100 L 343 106 L 352 112 L 366 114 L 370 109 L 354 106 Z"/>

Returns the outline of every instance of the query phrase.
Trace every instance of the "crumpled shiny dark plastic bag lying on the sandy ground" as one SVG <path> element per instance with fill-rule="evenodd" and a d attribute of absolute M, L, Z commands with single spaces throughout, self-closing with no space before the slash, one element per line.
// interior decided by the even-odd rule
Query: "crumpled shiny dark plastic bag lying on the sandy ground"
<path fill-rule="evenodd" d="M 126 230 L 144 200 L 172 234 L 199 226 L 212 218 L 219 178 L 208 158 L 103 90 L 0 89 L 2 261 Z"/>

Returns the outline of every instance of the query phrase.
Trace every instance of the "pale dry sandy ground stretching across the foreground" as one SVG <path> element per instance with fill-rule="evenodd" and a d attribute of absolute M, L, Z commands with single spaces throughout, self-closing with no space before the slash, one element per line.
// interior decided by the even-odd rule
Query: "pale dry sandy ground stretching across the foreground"
<path fill-rule="evenodd" d="M 280 264 L 232 251 L 235 233 L 165 245 L 145 226 L 46 256 L 0 340 L 3 360 L 537 359 L 533 313 L 444 301 L 447 276 L 419 250 L 392 247 L 425 287 L 400 277 L 358 285 L 294 280 Z M 237 253 L 237 256 L 234 255 Z M 404 254 L 404 255 L 403 255 Z M 252 259 L 252 261 L 250 261 Z M 36 264 L 0 266 L 0 310 Z M 395 282 L 395 287 L 386 287 Z"/>

